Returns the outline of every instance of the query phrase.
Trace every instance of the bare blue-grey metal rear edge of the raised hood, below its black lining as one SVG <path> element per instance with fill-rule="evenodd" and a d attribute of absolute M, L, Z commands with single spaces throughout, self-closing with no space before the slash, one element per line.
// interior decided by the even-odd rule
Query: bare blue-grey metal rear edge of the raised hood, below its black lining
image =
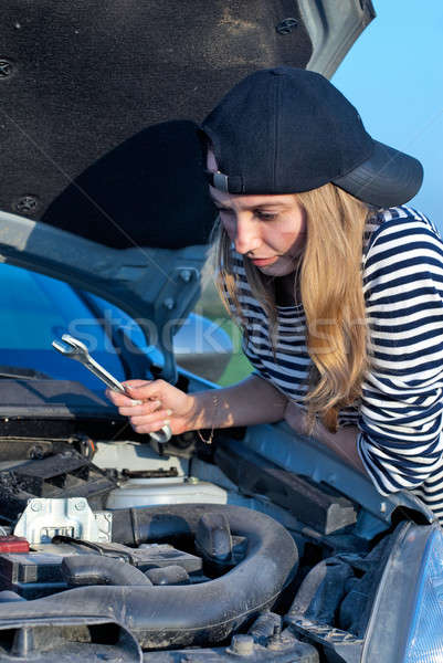
<path fill-rule="evenodd" d="M 0 212 L 0 256 L 117 305 L 137 320 L 147 346 L 161 350 L 162 377 L 177 381 L 172 336 L 199 296 L 204 245 L 117 250 Z"/>

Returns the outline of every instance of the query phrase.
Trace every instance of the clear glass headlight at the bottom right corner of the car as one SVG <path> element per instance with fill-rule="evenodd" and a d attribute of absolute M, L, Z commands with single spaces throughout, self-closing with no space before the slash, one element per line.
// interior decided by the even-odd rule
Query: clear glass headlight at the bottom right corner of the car
<path fill-rule="evenodd" d="M 443 530 L 407 523 L 382 575 L 362 663 L 443 662 Z"/>

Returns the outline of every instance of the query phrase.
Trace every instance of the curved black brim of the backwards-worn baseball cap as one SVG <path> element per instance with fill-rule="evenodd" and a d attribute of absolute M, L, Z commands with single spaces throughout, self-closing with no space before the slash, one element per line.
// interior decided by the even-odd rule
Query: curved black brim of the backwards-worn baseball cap
<path fill-rule="evenodd" d="M 371 157 L 334 183 L 355 198 L 388 208 L 403 204 L 419 191 L 423 167 L 418 159 L 393 147 L 375 143 Z"/>

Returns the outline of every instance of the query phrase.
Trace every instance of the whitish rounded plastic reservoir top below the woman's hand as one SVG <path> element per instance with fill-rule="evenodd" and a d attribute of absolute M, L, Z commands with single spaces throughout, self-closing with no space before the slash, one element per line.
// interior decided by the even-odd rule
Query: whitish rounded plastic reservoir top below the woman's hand
<path fill-rule="evenodd" d="M 130 478 L 108 495 L 106 508 L 159 504 L 226 504 L 228 493 L 215 484 L 190 476 Z"/>

